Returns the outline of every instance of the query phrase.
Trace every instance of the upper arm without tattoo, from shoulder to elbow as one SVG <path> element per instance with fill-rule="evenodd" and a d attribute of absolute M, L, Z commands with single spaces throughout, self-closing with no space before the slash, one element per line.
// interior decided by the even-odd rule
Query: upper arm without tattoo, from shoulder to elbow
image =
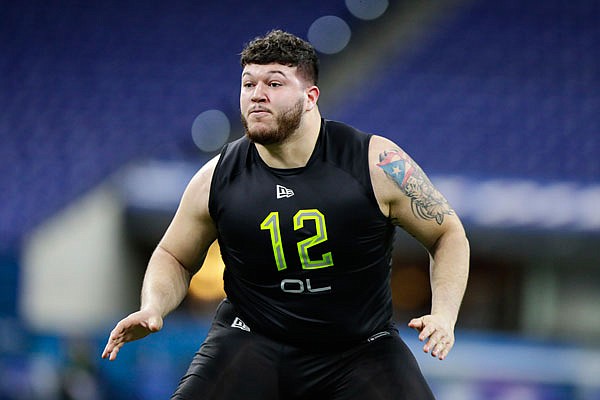
<path fill-rule="evenodd" d="M 217 237 L 208 211 L 210 181 L 216 160 L 207 163 L 188 184 L 159 247 L 195 273 Z"/>

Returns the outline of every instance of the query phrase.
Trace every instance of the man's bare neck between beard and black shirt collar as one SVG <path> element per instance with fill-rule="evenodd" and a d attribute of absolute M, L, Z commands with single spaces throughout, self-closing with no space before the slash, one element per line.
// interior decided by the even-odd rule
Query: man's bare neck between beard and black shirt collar
<path fill-rule="evenodd" d="M 317 109 L 304 115 L 300 126 L 285 142 L 255 144 L 260 158 L 271 168 L 299 168 L 308 163 L 321 130 L 321 114 Z"/>

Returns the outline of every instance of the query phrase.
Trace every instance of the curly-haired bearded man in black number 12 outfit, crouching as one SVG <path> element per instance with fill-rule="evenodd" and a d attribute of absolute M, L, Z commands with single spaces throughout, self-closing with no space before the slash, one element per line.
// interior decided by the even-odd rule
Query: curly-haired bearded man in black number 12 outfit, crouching
<path fill-rule="evenodd" d="M 161 329 L 218 239 L 228 298 L 173 399 L 433 398 L 392 323 L 393 234 L 431 255 L 431 314 L 409 326 L 443 360 L 468 275 L 459 218 L 394 143 L 321 118 L 310 44 L 272 31 L 241 64 L 246 135 L 192 178 L 102 356 Z"/>

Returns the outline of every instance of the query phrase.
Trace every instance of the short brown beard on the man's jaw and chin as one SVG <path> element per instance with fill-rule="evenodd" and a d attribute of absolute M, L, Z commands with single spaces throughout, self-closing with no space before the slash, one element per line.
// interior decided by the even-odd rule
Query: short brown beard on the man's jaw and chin
<path fill-rule="evenodd" d="M 281 144 L 285 142 L 300 126 L 304 107 L 303 99 L 298 99 L 296 104 L 275 118 L 275 127 L 264 127 L 251 129 L 248 121 L 242 114 L 242 124 L 246 136 L 254 143 L 264 145 Z"/>

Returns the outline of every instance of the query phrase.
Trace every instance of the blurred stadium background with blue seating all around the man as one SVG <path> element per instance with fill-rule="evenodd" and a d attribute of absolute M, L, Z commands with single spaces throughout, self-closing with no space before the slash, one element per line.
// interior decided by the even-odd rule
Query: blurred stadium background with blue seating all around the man
<path fill-rule="evenodd" d="M 319 51 L 323 115 L 394 140 L 463 218 L 444 362 L 404 328 L 427 255 L 395 246 L 437 398 L 600 399 L 596 0 L 3 1 L 0 399 L 172 393 L 223 297 L 218 248 L 163 331 L 100 354 L 188 180 L 242 135 L 239 53 L 273 28 Z"/>

